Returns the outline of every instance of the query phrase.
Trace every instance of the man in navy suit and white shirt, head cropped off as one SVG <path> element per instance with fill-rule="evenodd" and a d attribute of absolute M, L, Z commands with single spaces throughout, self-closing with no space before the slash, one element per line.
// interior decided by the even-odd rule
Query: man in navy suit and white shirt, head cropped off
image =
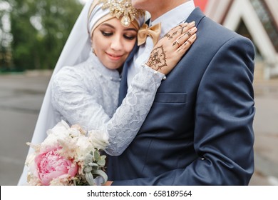
<path fill-rule="evenodd" d="M 247 185 L 254 171 L 254 47 L 208 19 L 193 1 L 133 0 L 162 23 L 160 37 L 195 21 L 197 40 L 158 89 L 139 133 L 108 161 L 113 185 Z M 152 40 L 123 69 L 120 103 Z"/>

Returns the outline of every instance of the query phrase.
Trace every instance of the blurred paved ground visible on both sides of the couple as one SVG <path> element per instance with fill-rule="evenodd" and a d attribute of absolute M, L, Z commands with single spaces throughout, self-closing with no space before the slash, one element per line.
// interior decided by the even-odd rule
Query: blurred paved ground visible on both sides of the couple
<path fill-rule="evenodd" d="M 0 75 L 0 185 L 16 185 L 50 73 Z M 250 185 L 278 185 L 278 81 L 255 83 L 255 173 Z"/>

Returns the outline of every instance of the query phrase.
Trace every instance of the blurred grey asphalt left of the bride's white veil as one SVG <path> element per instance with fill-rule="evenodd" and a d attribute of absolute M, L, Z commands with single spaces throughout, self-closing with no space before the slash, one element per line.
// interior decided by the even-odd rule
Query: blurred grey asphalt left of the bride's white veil
<path fill-rule="evenodd" d="M 0 185 L 16 185 L 49 75 L 0 76 Z"/>

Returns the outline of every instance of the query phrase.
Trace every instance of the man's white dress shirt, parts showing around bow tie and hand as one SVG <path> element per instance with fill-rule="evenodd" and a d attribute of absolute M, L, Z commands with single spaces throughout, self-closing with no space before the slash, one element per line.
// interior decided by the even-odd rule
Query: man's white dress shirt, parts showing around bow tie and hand
<path fill-rule="evenodd" d="M 151 24 L 158 24 L 161 22 L 161 33 L 160 38 L 163 37 L 170 29 L 184 22 L 191 12 L 195 9 L 194 1 L 187 1 L 180 6 L 175 7 L 163 14 L 162 16 L 155 19 L 155 21 L 150 21 Z M 145 44 L 139 47 L 139 50 L 133 57 L 133 66 L 128 68 L 128 87 L 130 86 L 135 74 L 140 71 L 140 66 L 148 61 L 150 52 L 153 50 L 153 40 L 148 36 Z"/>

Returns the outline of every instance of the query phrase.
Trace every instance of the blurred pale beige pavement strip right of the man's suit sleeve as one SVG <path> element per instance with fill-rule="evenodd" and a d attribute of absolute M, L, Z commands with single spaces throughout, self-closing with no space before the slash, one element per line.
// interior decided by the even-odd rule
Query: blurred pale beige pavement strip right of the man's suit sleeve
<path fill-rule="evenodd" d="M 254 83 L 255 173 L 251 185 L 278 186 L 278 81 Z"/>

